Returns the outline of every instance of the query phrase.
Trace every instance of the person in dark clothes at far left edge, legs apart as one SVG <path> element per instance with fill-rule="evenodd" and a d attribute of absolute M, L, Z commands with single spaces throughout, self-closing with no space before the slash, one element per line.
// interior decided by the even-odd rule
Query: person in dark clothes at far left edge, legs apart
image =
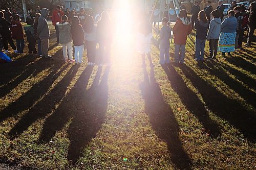
<path fill-rule="evenodd" d="M 0 34 L 3 38 L 3 45 L 5 49 L 5 53 L 8 54 L 8 42 L 11 45 L 12 49 L 14 50 L 14 53 L 17 53 L 16 46 L 13 42 L 12 35 L 11 35 L 11 23 L 7 21 L 4 17 L 4 13 L 0 11 Z"/>

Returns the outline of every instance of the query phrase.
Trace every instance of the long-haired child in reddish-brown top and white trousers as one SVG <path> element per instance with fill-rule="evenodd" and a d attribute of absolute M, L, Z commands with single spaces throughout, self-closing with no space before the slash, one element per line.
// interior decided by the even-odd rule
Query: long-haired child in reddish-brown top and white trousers
<path fill-rule="evenodd" d="M 84 33 L 82 30 L 82 26 L 80 25 L 80 20 L 77 16 L 73 17 L 71 23 L 71 35 L 75 47 L 75 60 L 76 64 L 82 63 L 82 54 L 83 54 L 83 39 Z"/>

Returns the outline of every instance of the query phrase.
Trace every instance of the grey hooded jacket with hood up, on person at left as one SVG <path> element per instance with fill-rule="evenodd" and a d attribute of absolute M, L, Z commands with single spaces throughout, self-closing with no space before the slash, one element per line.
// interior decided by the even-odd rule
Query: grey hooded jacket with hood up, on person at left
<path fill-rule="evenodd" d="M 41 39 L 50 37 L 50 31 L 49 31 L 48 23 L 46 21 L 46 18 L 49 12 L 50 11 L 47 8 L 42 8 L 41 16 L 38 19 L 37 35 Z"/>

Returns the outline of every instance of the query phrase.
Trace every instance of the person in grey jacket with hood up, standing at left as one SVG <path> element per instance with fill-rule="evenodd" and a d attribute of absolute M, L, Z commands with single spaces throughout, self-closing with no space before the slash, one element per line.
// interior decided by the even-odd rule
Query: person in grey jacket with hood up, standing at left
<path fill-rule="evenodd" d="M 45 57 L 45 58 L 51 57 L 48 55 L 50 31 L 49 31 L 48 23 L 46 20 L 49 12 L 50 12 L 49 9 L 42 8 L 41 16 L 38 19 L 38 25 L 37 25 L 37 36 L 41 40 L 42 57 Z"/>

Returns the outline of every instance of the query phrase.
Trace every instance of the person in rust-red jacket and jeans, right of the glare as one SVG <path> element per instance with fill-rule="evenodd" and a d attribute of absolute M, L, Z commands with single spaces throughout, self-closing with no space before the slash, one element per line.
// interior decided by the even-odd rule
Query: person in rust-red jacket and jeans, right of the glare
<path fill-rule="evenodd" d="M 187 11 L 180 10 L 179 18 L 173 28 L 175 48 L 174 56 L 176 63 L 184 63 L 187 35 L 189 35 L 191 31 L 192 25 L 190 18 L 187 17 Z"/>

